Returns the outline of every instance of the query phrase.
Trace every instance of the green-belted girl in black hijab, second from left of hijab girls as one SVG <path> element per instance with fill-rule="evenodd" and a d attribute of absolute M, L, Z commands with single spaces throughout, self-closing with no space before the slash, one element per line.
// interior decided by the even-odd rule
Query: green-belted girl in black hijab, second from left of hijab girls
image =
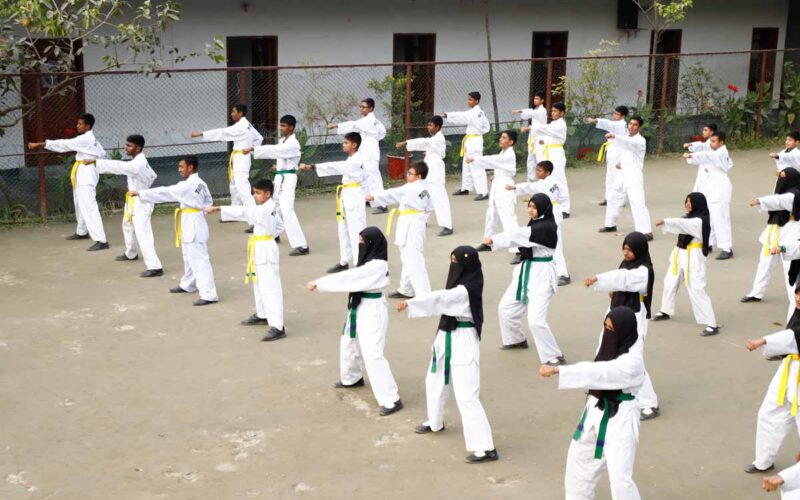
<path fill-rule="evenodd" d="M 480 338 L 483 328 L 483 271 L 478 252 L 469 246 L 450 254 L 450 272 L 444 290 L 435 290 L 400 302 L 398 311 L 409 318 L 440 316 L 425 377 L 428 419 L 417 434 L 444 429 L 444 407 L 450 387 L 461 413 L 468 463 L 497 460 L 492 429 L 479 399 Z"/>

